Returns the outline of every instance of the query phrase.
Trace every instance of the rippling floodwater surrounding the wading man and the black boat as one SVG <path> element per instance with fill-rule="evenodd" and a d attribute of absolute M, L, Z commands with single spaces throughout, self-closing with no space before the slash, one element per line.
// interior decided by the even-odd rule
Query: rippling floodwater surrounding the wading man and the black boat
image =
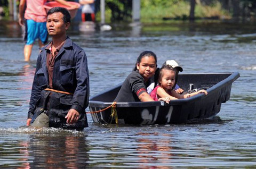
<path fill-rule="evenodd" d="M 0 21 L 0 168 L 255 168 L 256 25 L 173 22 L 114 25 L 68 35 L 83 47 L 91 96 L 122 82 L 143 50 L 158 65 L 175 59 L 183 73 L 239 72 L 218 116 L 192 124 L 95 124 L 83 132 L 29 129 L 27 119 L 38 46 L 23 61 L 17 24 Z"/>

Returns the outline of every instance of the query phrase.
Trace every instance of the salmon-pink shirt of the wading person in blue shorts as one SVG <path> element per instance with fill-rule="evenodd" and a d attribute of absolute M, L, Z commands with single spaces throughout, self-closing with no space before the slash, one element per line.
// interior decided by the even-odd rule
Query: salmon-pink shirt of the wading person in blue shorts
<path fill-rule="evenodd" d="M 27 9 L 25 11 L 25 19 L 34 20 L 36 22 L 46 22 L 46 11 L 44 4 L 47 0 L 26 0 Z"/>

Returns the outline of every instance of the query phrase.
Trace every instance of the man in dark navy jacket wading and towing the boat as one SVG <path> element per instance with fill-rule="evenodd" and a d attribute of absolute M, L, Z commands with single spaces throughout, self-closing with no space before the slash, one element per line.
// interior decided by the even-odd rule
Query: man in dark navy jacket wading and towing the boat
<path fill-rule="evenodd" d="M 89 71 L 84 50 L 67 37 L 70 14 L 63 7 L 47 12 L 52 41 L 38 55 L 27 125 L 83 130 L 89 102 Z"/>

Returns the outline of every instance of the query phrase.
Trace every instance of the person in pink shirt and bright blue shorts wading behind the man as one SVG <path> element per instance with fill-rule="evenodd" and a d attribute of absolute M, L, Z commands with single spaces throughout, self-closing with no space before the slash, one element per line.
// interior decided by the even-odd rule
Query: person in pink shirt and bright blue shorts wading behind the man
<path fill-rule="evenodd" d="M 65 0 L 56 1 L 71 8 L 78 7 L 77 5 L 70 5 Z M 38 39 L 40 48 L 47 43 L 46 11 L 44 9 L 44 4 L 46 2 L 47 0 L 20 0 L 19 24 L 20 26 L 25 26 L 23 39 L 26 40 L 24 57 L 27 62 L 30 60 L 32 48 L 36 39 Z"/>

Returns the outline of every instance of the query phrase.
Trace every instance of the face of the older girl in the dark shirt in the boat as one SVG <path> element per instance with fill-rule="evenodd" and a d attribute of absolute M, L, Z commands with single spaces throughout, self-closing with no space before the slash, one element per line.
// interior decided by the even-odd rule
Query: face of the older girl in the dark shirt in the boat
<path fill-rule="evenodd" d="M 154 56 L 144 56 L 140 63 L 137 63 L 137 69 L 145 81 L 152 77 L 156 71 L 156 60 Z"/>

